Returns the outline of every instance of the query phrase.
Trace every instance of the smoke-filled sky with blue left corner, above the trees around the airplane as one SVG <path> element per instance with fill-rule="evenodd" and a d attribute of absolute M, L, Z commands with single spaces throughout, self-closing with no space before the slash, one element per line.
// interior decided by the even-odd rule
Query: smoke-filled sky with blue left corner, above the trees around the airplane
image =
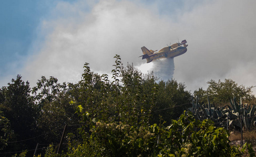
<path fill-rule="evenodd" d="M 186 39 L 173 78 L 193 92 L 231 78 L 256 85 L 255 1 L 105 0 L 1 1 L 0 86 L 21 74 L 34 86 L 40 76 L 77 82 L 83 64 L 110 75 L 114 55 L 144 73 L 167 69 L 146 64 L 140 48 L 159 50 Z M 232 5 L 231 5 L 232 4 Z M 164 78 L 166 80 L 166 78 Z"/>

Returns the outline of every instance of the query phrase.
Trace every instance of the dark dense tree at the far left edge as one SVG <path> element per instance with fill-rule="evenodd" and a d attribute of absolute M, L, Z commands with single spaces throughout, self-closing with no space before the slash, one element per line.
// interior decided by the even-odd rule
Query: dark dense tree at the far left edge
<path fill-rule="evenodd" d="M 35 127 L 36 115 L 29 83 L 25 83 L 21 78 L 17 75 L 16 80 L 13 79 L 12 83 L 2 88 L 4 96 L 2 109 L 5 116 L 12 121 L 14 132 L 28 135 Z"/>

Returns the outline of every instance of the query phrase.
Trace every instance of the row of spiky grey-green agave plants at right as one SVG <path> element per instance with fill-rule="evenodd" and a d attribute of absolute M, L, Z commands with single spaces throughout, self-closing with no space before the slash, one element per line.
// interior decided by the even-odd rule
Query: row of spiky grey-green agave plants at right
<path fill-rule="evenodd" d="M 200 105 L 198 98 L 196 102 L 194 102 L 192 97 L 192 107 L 187 109 L 191 111 L 197 119 L 211 119 L 220 127 L 234 126 L 235 128 L 241 129 L 242 122 L 244 128 L 250 130 L 256 125 L 255 105 L 243 105 L 241 98 L 239 104 L 234 97 L 230 99 L 230 105 L 216 108 L 214 104 L 210 104 L 209 97 L 207 105 Z M 229 124 L 227 124 L 227 122 L 229 122 Z"/>

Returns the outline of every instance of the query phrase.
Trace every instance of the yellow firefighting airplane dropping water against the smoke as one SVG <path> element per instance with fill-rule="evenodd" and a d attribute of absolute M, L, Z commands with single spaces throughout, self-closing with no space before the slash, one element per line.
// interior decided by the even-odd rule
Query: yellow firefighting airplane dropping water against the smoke
<path fill-rule="evenodd" d="M 186 40 L 182 40 L 181 43 L 174 43 L 171 46 L 160 49 L 158 52 L 156 52 L 157 50 L 153 51 L 148 50 L 146 47 L 142 47 L 141 50 L 144 55 L 141 55 L 140 57 L 142 57 L 142 60 L 147 59 L 147 63 L 160 58 L 174 58 L 187 52 L 188 45 L 186 43 Z"/>

